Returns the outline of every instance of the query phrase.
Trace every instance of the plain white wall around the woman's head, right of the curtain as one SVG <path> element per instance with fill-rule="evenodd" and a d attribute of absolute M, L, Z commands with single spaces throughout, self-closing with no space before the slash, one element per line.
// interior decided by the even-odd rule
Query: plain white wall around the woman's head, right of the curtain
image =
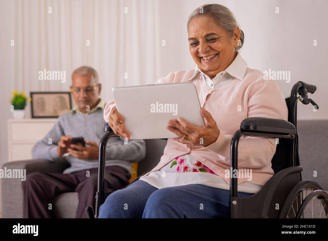
<path fill-rule="evenodd" d="M 163 76 L 176 69 L 190 69 L 195 64 L 187 46 L 186 19 L 202 1 L 176 1 L 162 6 L 161 38 L 166 39 L 162 59 Z M 207 1 L 230 8 L 245 33 L 240 53 L 255 69 L 291 71 L 291 81 L 278 81 L 288 97 L 294 83 L 303 81 L 317 85 L 312 105 L 298 105 L 298 119 L 327 119 L 328 105 L 328 1 Z M 279 7 L 279 13 L 275 8 Z M 168 17 L 169 16 L 169 17 Z M 179 23 L 179 24 L 177 24 Z M 313 40 L 318 46 L 313 46 Z M 169 48 L 169 50 L 168 50 Z M 311 98 L 311 94 L 310 98 Z"/>

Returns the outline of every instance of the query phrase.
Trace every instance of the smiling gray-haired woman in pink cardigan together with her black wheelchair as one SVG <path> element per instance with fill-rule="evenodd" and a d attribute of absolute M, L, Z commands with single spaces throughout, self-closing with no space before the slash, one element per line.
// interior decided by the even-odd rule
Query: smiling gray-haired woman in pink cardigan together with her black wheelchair
<path fill-rule="evenodd" d="M 106 200 L 100 176 L 96 217 L 299 217 L 306 208 L 293 205 L 297 198 L 309 202 L 304 190 L 320 199 L 322 216 L 328 214 L 320 186 L 301 181 L 297 152 L 297 99 L 317 106 L 307 99 L 316 87 L 297 83 L 284 100 L 275 80 L 247 67 L 237 51 L 244 33 L 222 5 L 195 9 L 187 28 L 196 68 L 172 72 L 156 84 L 193 82 L 205 125 L 170 120 L 167 129 L 180 138 L 168 139 L 156 167 Z M 104 118 L 113 135 L 130 139 L 113 101 Z"/>

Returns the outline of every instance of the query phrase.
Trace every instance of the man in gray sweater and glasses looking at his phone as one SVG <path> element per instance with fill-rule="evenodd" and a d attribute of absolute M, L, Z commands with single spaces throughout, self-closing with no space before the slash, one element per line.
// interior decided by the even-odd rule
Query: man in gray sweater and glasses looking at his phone
<path fill-rule="evenodd" d="M 101 84 L 97 72 L 88 66 L 72 74 L 72 96 L 76 106 L 59 116 L 50 132 L 32 149 L 34 159 L 56 161 L 66 156 L 70 167 L 63 173 L 34 172 L 23 182 L 24 217 L 54 217 L 54 197 L 65 192 L 77 192 L 79 204 L 76 218 L 86 218 L 87 205 L 95 206 L 97 191 L 99 141 L 103 135 L 105 103 L 99 98 Z M 83 137 L 86 147 L 74 145 L 71 138 Z M 106 192 L 129 184 L 132 162 L 146 155 L 144 140 L 112 138 L 106 150 Z"/>

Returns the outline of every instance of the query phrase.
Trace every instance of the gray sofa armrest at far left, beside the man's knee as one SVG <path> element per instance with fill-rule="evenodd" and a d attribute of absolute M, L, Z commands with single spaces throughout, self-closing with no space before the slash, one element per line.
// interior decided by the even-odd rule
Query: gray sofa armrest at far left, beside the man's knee
<path fill-rule="evenodd" d="M 33 172 L 62 173 L 70 164 L 65 158 L 55 161 L 33 159 L 12 161 L 3 164 L 2 169 L 26 169 L 26 175 Z M 26 176 L 24 177 L 26 178 Z M 23 188 L 21 178 L 1 178 L 2 182 L 2 216 L 4 218 L 23 217 Z"/>

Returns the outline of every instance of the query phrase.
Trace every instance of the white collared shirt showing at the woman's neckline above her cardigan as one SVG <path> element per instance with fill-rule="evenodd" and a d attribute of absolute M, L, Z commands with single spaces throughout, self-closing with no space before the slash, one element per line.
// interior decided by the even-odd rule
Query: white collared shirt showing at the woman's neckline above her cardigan
<path fill-rule="evenodd" d="M 218 73 L 212 80 L 208 75 L 204 74 L 204 72 L 197 65 L 193 77 L 191 77 L 189 80 L 194 79 L 198 72 L 200 72 L 201 77 L 205 77 L 203 78 L 204 83 L 213 89 L 219 89 L 233 81 L 235 78 L 242 80 L 246 72 L 247 63 L 241 57 L 240 53 L 238 51 L 236 52 L 237 56 L 234 61 L 224 71 Z"/>

